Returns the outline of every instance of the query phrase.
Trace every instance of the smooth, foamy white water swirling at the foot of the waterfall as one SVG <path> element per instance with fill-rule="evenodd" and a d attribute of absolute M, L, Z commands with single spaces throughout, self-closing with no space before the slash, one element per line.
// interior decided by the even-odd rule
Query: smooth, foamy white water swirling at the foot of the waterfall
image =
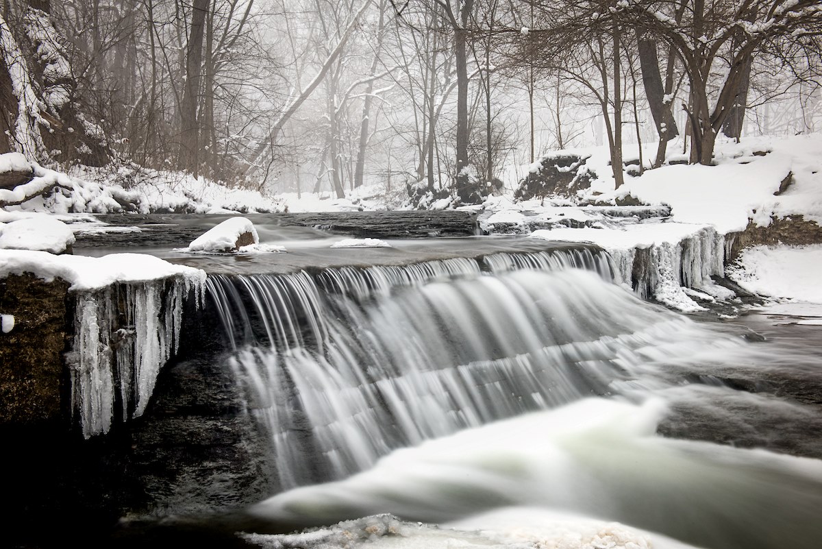
<path fill-rule="evenodd" d="M 722 549 L 819 547 L 820 460 L 664 439 L 654 434 L 664 413 L 658 399 L 583 399 L 396 450 L 252 513 L 297 524 L 391 513 L 486 537 L 463 545 L 441 528 L 436 542 L 406 529 L 379 547 L 681 547 L 668 537 Z M 620 534 L 586 544 L 592 528 Z"/>

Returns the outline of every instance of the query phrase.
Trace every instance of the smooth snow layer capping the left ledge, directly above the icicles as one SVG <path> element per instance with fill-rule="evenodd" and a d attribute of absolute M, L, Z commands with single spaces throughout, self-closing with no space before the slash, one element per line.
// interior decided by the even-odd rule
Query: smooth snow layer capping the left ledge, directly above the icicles
<path fill-rule="evenodd" d="M 0 278 L 32 273 L 47 282 L 61 278 L 72 291 L 105 288 L 116 282 L 145 282 L 180 276 L 203 284 L 205 271 L 174 265 L 159 257 L 118 253 L 102 257 L 55 256 L 46 251 L 0 250 Z"/>

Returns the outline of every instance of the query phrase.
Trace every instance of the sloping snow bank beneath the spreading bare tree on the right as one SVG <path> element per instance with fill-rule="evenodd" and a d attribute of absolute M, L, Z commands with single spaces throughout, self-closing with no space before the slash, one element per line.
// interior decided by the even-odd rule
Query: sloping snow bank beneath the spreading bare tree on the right
<path fill-rule="evenodd" d="M 646 170 L 626 178 L 616 191 L 610 170 L 599 168 L 607 149 L 591 153 L 589 164 L 597 165 L 598 180 L 580 198 L 614 201 L 630 195 L 647 204 L 667 204 L 673 220 L 709 224 L 723 234 L 743 230 L 749 219 L 767 226 L 772 216 L 803 215 L 822 224 L 822 134 L 746 137 L 741 143 L 720 139 L 716 165 Z M 787 191 L 774 194 L 786 178 L 792 181 Z"/>

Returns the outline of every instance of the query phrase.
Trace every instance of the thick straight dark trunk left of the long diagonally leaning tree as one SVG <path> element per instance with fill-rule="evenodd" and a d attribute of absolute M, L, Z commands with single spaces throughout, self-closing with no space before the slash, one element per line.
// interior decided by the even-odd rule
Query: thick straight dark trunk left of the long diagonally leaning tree
<path fill-rule="evenodd" d="M 186 82 L 183 85 L 180 105 L 180 168 L 196 178 L 199 168 L 200 124 L 197 120 L 197 104 L 203 61 L 205 13 L 209 0 L 193 0 L 192 25 L 186 47 Z"/>

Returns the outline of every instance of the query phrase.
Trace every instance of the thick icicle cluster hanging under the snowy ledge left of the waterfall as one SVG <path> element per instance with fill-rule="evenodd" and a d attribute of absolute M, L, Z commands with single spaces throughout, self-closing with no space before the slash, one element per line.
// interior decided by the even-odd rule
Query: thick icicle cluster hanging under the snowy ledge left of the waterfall
<path fill-rule="evenodd" d="M 120 283 L 79 293 L 72 353 L 72 413 L 89 438 L 145 412 L 159 370 L 178 350 L 182 308 L 197 306 L 205 274 Z"/>

